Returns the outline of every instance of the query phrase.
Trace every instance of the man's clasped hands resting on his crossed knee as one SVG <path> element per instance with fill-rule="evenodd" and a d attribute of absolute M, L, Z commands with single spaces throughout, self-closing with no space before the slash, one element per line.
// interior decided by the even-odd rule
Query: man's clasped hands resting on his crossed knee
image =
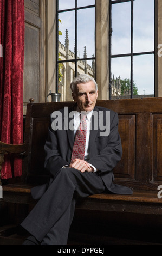
<path fill-rule="evenodd" d="M 80 172 L 94 172 L 93 167 L 90 166 L 89 163 L 87 163 L 85 160 L 81 159 L 74 159 L 72 163 L 70 163 L 70 166 L 72 168 L 75 168 L 77 170 L 80 170 Z"/>

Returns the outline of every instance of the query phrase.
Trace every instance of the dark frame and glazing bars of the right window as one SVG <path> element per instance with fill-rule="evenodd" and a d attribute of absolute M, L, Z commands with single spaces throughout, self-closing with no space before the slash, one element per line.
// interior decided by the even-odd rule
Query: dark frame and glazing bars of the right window
<path fill-rule="evenodd" d="M 112 4 L 119 4 L 131 2 L 131 53 L 126 54 L 112 54 Z M 133 99 L 133 57 L 134 56 L 141 56 L 147 54 L 154 54 L 154 97 L 155 97 L 155 0 L 154 0 L 154 51 L 149 52 L 133 52 L 133 2 L 134 0 L 109 0 L 109 99 L 112 99 L 112 68 L 111 68 L 111 60 L 112 58 L 117 57 L 131 57 L 131 99 Z"/>

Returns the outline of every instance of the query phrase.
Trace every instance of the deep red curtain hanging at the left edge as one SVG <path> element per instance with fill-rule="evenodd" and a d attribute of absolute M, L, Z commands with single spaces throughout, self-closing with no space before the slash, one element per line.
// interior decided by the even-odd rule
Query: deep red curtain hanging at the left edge
<path fill-rule="evenodd" d="M 23 142 L 24 0 L 0 0 L 0 140 Z M 5 157 L 1 179 L 22 175 L 22 160 Z"/>

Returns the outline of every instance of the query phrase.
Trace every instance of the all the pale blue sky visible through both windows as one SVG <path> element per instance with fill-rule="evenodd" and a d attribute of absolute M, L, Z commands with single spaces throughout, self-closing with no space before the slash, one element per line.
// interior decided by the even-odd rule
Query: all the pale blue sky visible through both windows
<path fill-rule="evenodd" d="M 94 4 L 94 0 L 78 0 L 78 6 Z M 59 0 L 59 9 L 75 7 L 75 0 Z M 59 29 L 62 35 L 59 41 L 64 44 L 65 31 L 68 29 L 69 48 L 74 51 L 75 42 L 75 15 L 74 11 L 60 13 Z M 87 58 L 95 53 L 94 45 L 94 8 L 78 11 L 78 56 L 83 58 L 84 46 L 87 49 Z M 125 2 L 112 5 L 112 54 L 130 53 L 131 51 L 131 3 Z M 154 51 L 154 0 L 134 0 L 133 20 L 134 44 L 133 52 Z M 113 58 L 112 74 L 121 79 L 130 78 L 130 57 Z M 89 63 L 90 64 L 90 63 Z M 138 93 L 154 93 L 154 57 L 134 56 L 134 83 Z"/>

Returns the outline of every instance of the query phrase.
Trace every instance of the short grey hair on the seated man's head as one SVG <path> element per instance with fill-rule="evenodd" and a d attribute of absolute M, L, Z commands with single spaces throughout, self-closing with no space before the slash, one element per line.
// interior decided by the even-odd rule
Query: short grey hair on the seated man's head
<path fill-rule="evenodd" d="M 96 91 L 97 91 L 98 90 L 98 84 L 96 83 L 96 81 L 94 80 L 94 78 L 92 76 L 89 76 L 87 74 L 81 74 L 81 75 L 75 77 L 74 80 L 72 81 L 72 83 L 70 83 L 70 88 L 71 88 L 72 92 L 75 93 L 77 84 L 88 83 L 90 81 L 94 82 L 95 88 L 96 88 Z"/>

